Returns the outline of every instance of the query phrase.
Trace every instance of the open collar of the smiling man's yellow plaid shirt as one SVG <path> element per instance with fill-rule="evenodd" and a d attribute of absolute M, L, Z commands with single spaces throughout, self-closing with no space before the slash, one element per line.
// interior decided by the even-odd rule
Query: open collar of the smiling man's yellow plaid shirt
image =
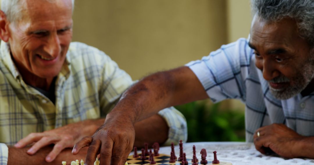
<path fill-rule="evenodd" d="M 70 48 L 69 48 L 70 49 Z M 9 69 L 15 79 L 22 78 L 18 69 L 16 68 L 10 53 L 10 46 L 7 42 L 1 41 L 0 43 L 0 58 L 4 65 Z M 65 62 L 61 68 L 58 76 L 65 76 L 68 79 L 70 75 L 70 56 L 69 51 L 67 52 Z"/>

